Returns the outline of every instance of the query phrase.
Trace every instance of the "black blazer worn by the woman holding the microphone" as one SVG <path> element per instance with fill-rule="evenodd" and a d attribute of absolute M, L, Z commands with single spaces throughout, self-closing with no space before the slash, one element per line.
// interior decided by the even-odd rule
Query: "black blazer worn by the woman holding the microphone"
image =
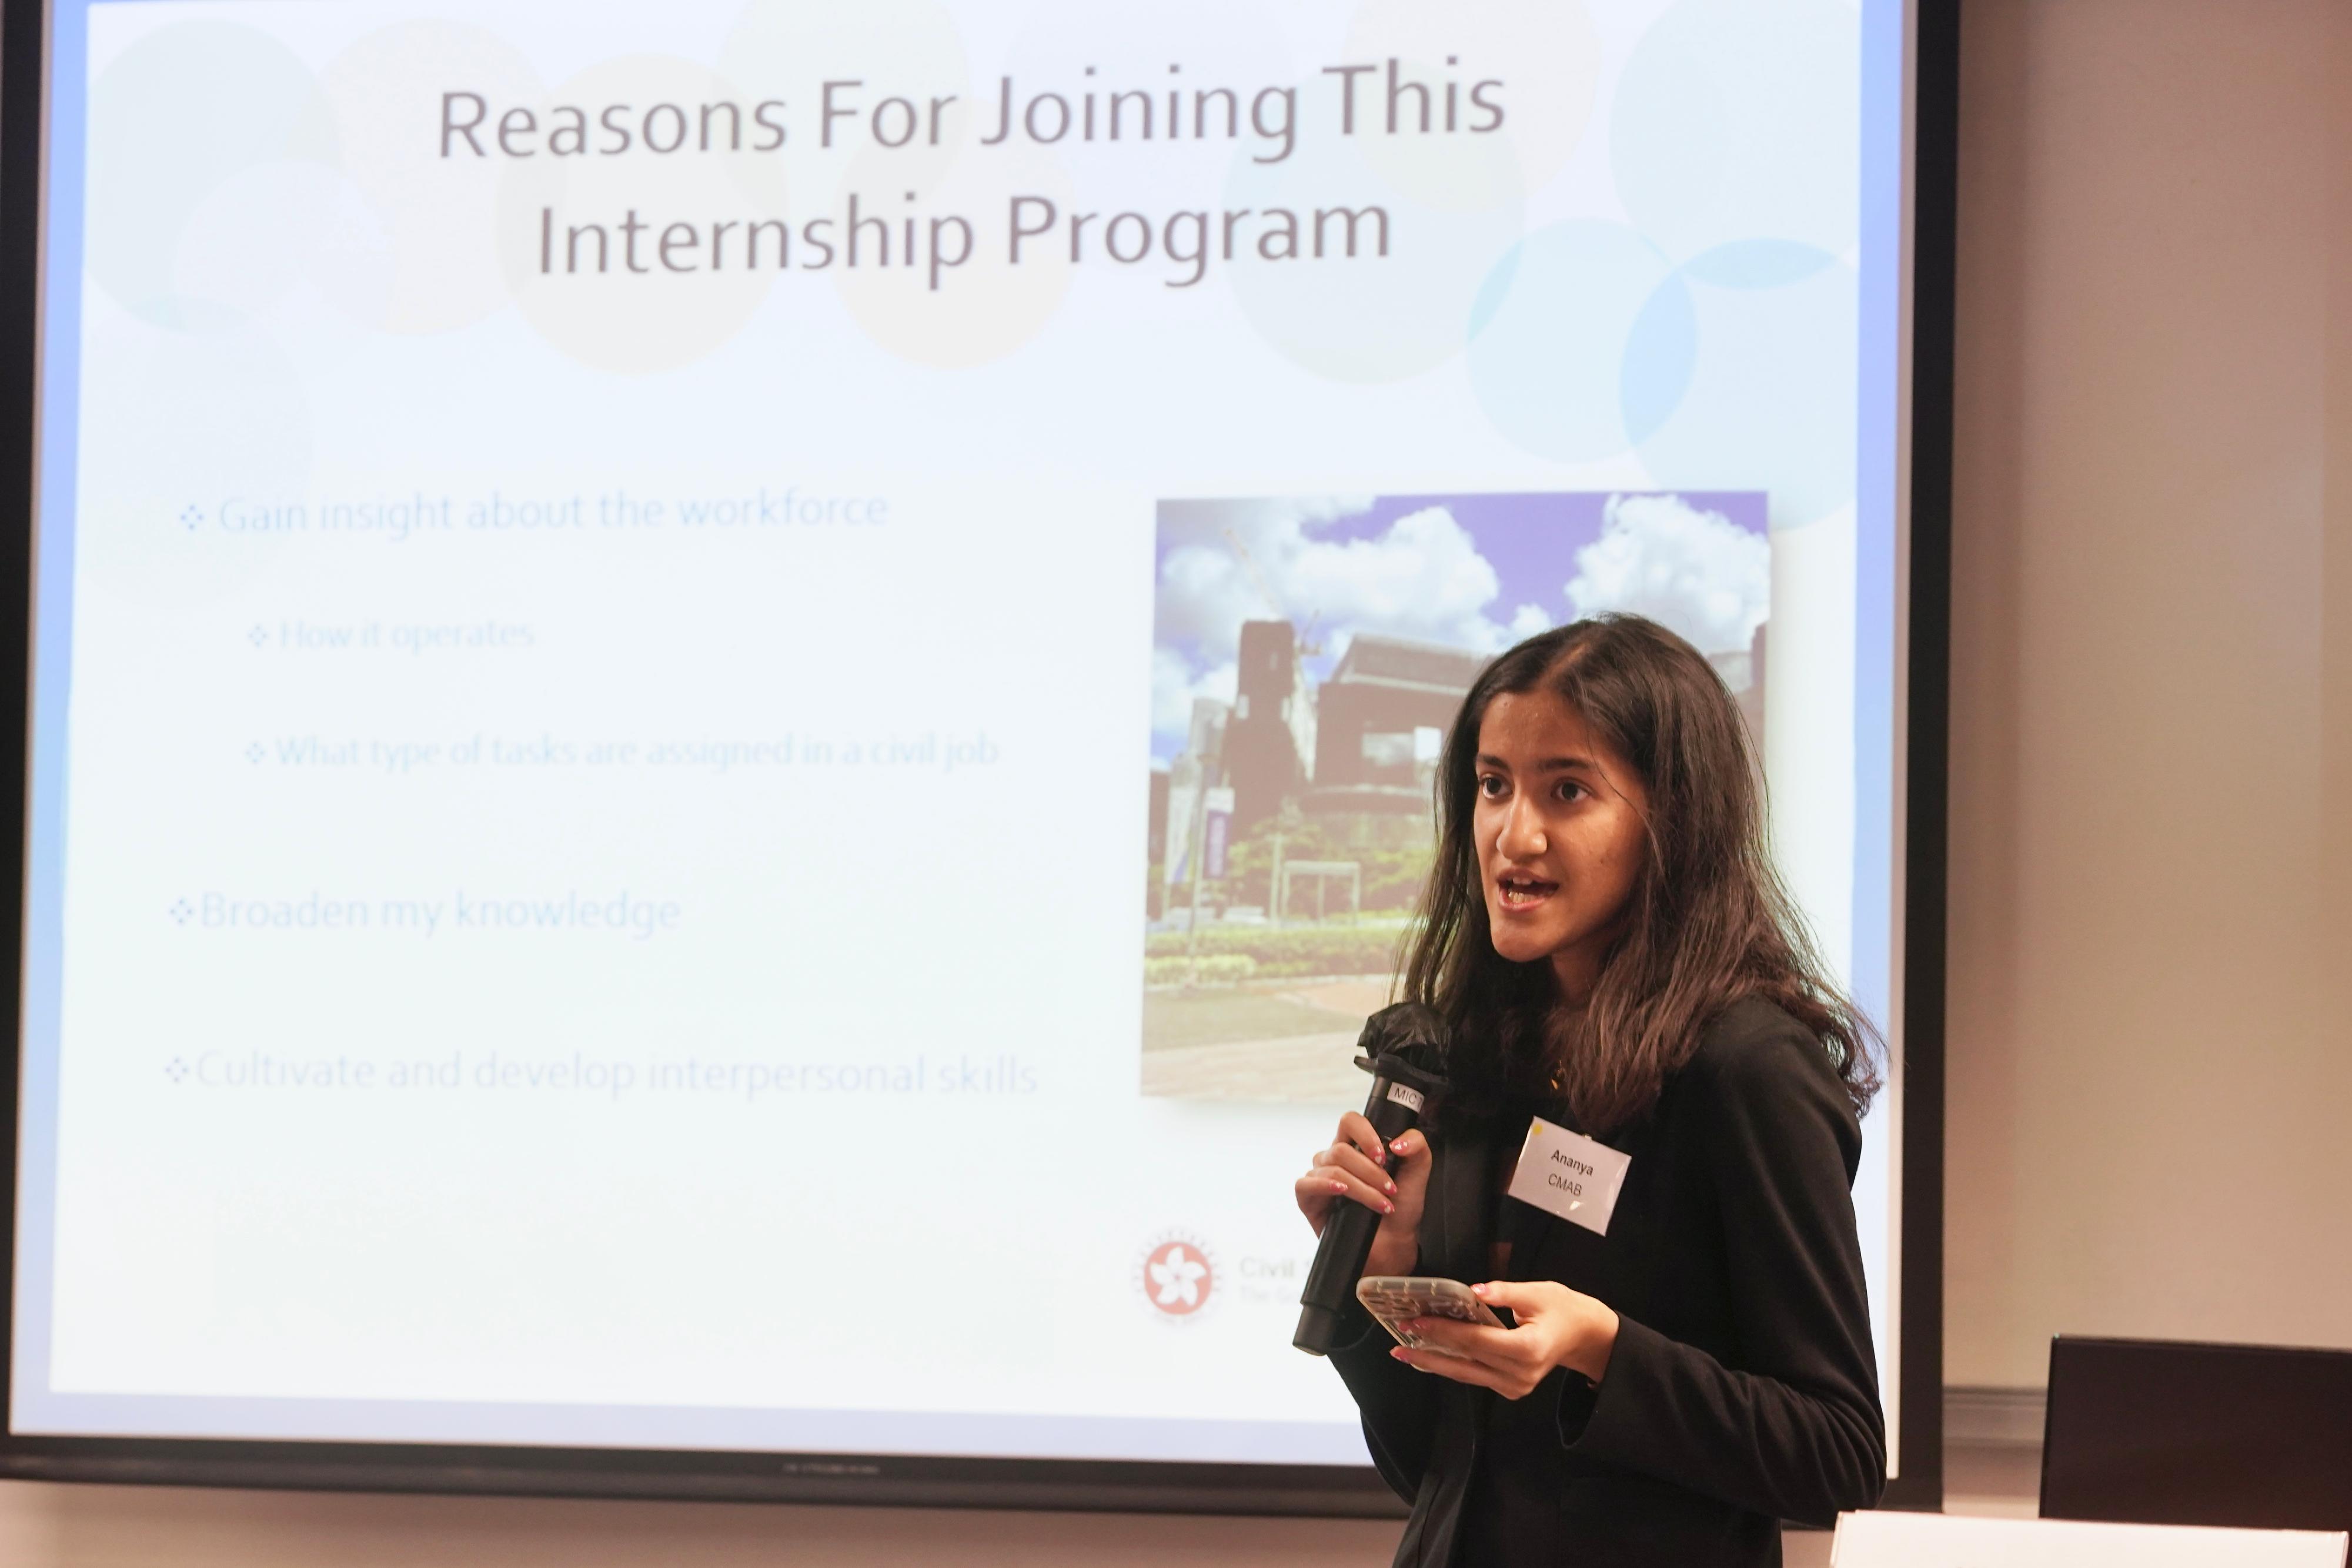
<path fill-rule="evenodd" d="M 1886 1427 L 1851 1197 L 1863 1133 L 1828 1048 L 1769 1001 L 1715 1018 L 1609 1138 L 1632 1164 L 1606 1237 L 1496 1197 L 1524 1133 L 1519 1117 L 1437 1128 L 1418 1272 L 1489 1279 L 1501 1225 L 1512 1279 L 1597 1295 L 1623 1326 L 1597 1387 L 1555 1371 L 1505 1401 L 1392 1361 L 1362 1316 L 1331 1363 L 1381 1476 L 1414 1505 L 1397 1568 L 1748 1568 L 1780 1561 L 1783 1519 L 1825 1526 L 1877 1502 Z"/>

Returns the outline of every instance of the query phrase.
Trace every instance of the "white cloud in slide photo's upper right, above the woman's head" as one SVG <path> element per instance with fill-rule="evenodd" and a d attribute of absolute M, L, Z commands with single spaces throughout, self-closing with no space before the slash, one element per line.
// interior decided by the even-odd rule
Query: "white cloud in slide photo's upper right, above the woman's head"
<path fill-rule="evenodd" d="M 1771 543 L 1682 496 L 1611 496 L 1566 592 L 1578 616 L 1632 611 L 1700 654 L 1745 654 L 1771 614 Z"/>

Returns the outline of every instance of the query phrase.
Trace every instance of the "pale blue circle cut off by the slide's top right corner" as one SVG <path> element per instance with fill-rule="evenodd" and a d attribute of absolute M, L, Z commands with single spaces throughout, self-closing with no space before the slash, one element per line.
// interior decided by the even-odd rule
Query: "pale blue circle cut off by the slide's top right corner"
<path fill-rule="evenodd" d="M 1755 237 L 1844 254 L 1860 212 L 1858 78 L 1851 0 L 1682 0 L 1616 85 L 1625 216 L 1677 261 Z"/>

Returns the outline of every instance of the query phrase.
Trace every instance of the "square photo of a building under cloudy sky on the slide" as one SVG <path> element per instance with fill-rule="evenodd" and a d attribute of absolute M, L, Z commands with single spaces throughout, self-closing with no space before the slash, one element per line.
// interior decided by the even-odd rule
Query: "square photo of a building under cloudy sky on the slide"
<path fill-rule="evenodd" d="M 1602 611 L 1691 639 L 1762 743 L 1762 494 L 1162 501 L 1143 1091 L 1359 1093 L 1461 698 Z M 1195 846 L 1200 853 L 1195 856 Z"/>

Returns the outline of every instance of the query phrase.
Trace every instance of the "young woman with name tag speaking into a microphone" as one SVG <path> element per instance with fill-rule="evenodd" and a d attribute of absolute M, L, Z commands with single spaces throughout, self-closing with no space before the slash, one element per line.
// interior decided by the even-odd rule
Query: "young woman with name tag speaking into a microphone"
<path fill-rule="evenodd" d="M 1778 1563 L 1783 1519 L 1886 1481 L 1851 1201 L 1877 1072 L 1748 724 L 1686 642 L 1602 616 L 1489 665 L 1439 769 L 1409 1001 L 1367 1032 L 1435 1025 L 1456 1091 L 1395 1173 L 1348 1114 L 1296 1185 L 1317 1232 L 1383 1215 L 1367 1274 L 1484 1281 L 1508 1324 L 1404 1349 L 1364 1316 L 1331 1354 L 1414 1505 L 1397 1563 Z M 1613 1206 L 1541 1192 L 1562 1150 L 1623 1157 Z"/>

